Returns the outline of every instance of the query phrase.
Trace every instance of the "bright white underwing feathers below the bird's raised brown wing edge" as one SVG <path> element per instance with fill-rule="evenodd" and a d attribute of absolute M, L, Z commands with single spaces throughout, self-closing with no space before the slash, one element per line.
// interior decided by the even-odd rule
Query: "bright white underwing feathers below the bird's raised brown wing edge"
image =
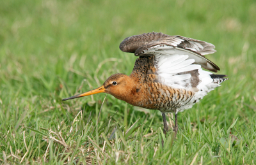
<path fill-rule="evenodd" d="M 144 54 L 155 55 L 154 66 L 159 82 L 172 88 L 190 89 L 191 75 L 184 72 L 201 68 L 200 65 L 193 64 L 195 59 L 189 59 L 188 52 L 166 45 L 152 47 L 145 50 Z"/>

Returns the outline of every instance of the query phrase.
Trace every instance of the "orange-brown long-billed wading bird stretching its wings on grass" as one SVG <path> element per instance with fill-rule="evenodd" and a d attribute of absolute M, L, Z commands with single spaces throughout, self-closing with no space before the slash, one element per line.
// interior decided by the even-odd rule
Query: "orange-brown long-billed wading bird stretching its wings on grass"
<path fill-rule="evenodd" d="M 169 129 L 166 113 L 175 113 L 176 137 L 178 113 L 192 108 L 228 80 L 227 75 L 214 74 L 220 68 L 205 55 L 216 52 L 215 46 L 205 41 L 148 32 L 125 38 L 119 48 L 138 56 L 131 75 L 116 73 L 99 88 L 63 101 L 102 92 L 111 94 L 133 106 L 161 111 L 164 134 Z"/>

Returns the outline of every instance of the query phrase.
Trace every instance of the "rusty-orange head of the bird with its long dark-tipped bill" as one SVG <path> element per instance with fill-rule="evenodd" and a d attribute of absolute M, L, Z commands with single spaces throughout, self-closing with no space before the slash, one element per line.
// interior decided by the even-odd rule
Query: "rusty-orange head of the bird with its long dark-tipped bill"
<path fill-rule="evenodd" d="M 85 92 L 83 94 L 78 94 L 76 96 L 68 97 L 63 99 L 63 101 L 68 99 L 76 99 L 77 97 L 89 96 L 92 94 L 98 93 L 107 93 L 115 96 L 118 99 L 124 100 L 125 95 L 131 90 L 132 87 L 132 79 L 124 75 L 122 73 L 117 73 L 109 76 L 109 78 L 103 83 L 103 85 L 97 89 L 90 90 L 89 92 Z"/>

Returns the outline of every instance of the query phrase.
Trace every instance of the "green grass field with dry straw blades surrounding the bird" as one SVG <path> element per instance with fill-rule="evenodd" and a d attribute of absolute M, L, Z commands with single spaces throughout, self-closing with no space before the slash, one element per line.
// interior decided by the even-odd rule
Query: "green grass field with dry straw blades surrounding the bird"
<path fill-rule="evenodd" d="M 0 164 L 255 164 L 255 17 L 247 0 L 1 1 Z M 136 57 L 118 45 L 152 31 L 213 43 L 230 78 L 179 113 L 177 140 L 159 111 L 61 101 L 129 75 Z"/>

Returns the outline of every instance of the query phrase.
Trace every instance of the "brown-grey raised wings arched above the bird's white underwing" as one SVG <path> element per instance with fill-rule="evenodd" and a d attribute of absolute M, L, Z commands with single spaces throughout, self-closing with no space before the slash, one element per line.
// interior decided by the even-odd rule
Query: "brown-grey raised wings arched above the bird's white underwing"
<path fill-rule="evenodd" d="M 220 70 L 216 64 L 204 57 L 205 54 L 216 52 L 214 45 L 196 39 L 149 32 L 125 38 L 119 48 L 123 52 L 134 53 L 136 56 L 188 55 L 187 59 L 193 59 L 193 64 L 199 64 L 202 68 L 213 72 Z"/>

